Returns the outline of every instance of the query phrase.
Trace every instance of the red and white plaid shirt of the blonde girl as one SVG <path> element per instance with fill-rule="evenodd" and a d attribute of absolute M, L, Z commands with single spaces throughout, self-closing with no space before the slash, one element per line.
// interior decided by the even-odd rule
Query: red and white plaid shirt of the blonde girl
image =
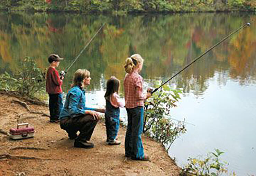
<path fill-rule="evenodd" d="M 146 95 L 143 94 L 143 78 L 138 72 L 133 71 L 125 75 L 125 107 L 135 108 L 138 106 L 144 107 Z"/>

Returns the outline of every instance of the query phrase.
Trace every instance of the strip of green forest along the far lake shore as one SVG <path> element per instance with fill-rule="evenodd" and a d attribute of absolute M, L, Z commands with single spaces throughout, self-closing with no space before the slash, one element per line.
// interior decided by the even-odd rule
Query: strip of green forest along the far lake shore
<path fill-rule="evenodd" d="M 1 0 L 0 10 L 83 13 L 256 11 L 255 0 Z"/>

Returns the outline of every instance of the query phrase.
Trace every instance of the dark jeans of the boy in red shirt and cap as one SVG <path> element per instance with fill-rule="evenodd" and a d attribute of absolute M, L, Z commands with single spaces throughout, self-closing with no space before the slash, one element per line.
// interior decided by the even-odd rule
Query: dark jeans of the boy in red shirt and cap
<path fill-rule="evenodd" d="M 62 108 L 62 94 L 49 94 L 50 120 L 58 120 Z"/>

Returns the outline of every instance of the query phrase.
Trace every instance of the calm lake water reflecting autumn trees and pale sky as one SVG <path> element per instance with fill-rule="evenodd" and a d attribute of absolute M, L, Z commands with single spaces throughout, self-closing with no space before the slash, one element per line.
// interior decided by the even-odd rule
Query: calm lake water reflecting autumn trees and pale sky
<path fill-rule="evenodd" d="M 106 79 L 121 81 L 124 60 L 133 53 L 145 59 L 145 80 L 167 80 L 195 57 L 244 23 L 255 20 L 246 13 L 191 13 L 146 16 L 81 16 L 79 14 L 0 13 L 0 73 L 12 72 L 19 61 L 33 57 L 47 68 L 47 56 L 65 58 L 69 66 L 106 22 L 64 81 L 68 90 L 73 72 L 91 71 L 87 104 L 104 106 Z M 218 148 L 225 151 L 229 171 L 256 174 L 256 23 L 209 52 L 170 82 L 183 90 L 172 118 L 184 119 L 188 131 L 177 139 L 169 154 L 182 166 Z M 122 95 L 123 87 L 121 87 Z M 122 119 L 126 119 L 122 109 Z"/>

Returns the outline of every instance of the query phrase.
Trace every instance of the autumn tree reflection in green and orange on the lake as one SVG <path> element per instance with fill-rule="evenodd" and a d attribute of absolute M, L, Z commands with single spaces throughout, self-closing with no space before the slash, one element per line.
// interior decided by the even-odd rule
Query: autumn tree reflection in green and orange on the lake
<path fill-rule="evenodd" d="M 59 53 L 66 68 L 94 35 L 103 21 L 107 25 L 71 68 L 91 70 L 91 89 L 99 89 L 101 75 L 124 77 L 123 63 L 132 53 L 145 58 L 145 78 L 168 78 L 255 16 L 249 14 L 176 14 L 157 16 L 81 16 L 71 14 L 1 14 L 1 72 L 17 68 L 24 56 L 34 57 L 47 67 L 49 53 Z M 174 82 L 185 92 L 201 94 L 217 71 L 219 84 L 226 74 L 241 85 L 255 81 L 256 25 L 232 36 L 198 63 L 184 71 Z M 68 79 L 71 79 L 69 74 Z"/>

